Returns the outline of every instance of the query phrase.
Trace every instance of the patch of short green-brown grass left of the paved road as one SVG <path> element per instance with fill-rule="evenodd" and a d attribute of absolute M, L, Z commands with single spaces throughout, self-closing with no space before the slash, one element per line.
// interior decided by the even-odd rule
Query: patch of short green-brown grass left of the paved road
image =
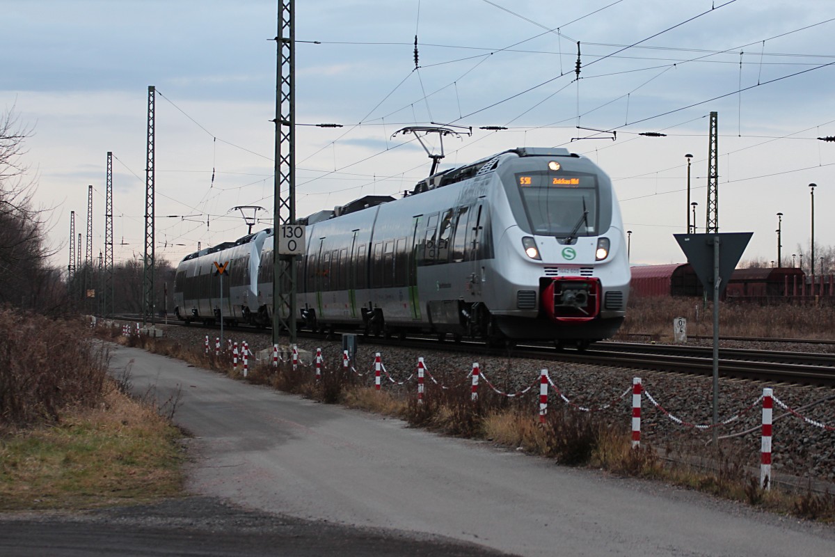
<path fill-rule="evenodd" d="M 8 431 L 0 444 L 0 510 L 89 509 L 182 490 L 180 431 L 107 382 L 96 408 L 58 424 Z"/>

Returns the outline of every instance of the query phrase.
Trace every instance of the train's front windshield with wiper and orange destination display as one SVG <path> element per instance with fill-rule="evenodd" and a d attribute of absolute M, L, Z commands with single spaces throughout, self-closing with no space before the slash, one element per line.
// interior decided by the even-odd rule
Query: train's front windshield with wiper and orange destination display
<path fill-rule="evenodd" d="M 530 232 L 537 235 L 597 235 L 595 175 L 534 171 L 515 175 Z"/>

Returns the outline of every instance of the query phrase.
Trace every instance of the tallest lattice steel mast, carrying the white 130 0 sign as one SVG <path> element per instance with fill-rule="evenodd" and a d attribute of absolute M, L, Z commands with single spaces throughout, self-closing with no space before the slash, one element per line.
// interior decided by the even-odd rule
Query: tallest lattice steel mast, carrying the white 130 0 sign
<path fill-rule="evenodd" d="M 272 342 L 286 330 L 296 342 L 296 265 L 294 256 L 278 256 L 281 225 L 296 223 L 296 74 L 295 0 L 279 0 L 276 35 L 276 167 L 273 197 Z"/>

